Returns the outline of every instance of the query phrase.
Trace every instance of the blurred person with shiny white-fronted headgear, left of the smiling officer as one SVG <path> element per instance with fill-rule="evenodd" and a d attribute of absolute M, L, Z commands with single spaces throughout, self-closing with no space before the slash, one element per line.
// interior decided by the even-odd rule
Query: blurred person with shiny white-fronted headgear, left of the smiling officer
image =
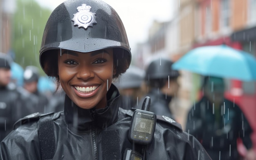
<path fill-rule="evenodd" d="M 23 88 L 38 97 L 35 112 L 44 113 L 47 111 L 49 100 L 45 94 L 38 90 L 39 69 L 36 66 L 27 66 L 23 74 Z"/>

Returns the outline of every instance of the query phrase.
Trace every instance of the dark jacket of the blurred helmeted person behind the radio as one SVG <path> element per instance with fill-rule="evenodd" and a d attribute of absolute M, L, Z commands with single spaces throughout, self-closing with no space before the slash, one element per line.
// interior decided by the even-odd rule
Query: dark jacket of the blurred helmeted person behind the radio
<path fill-rule="evenodd" d="M 157 89 L 151 89 L 146 96 L 149 96 L 151 99 L 150 103 L 150 112 L 154 112 L 157 115 L 168 116 L 172 119 L 175 119 L 171 110 L 169 108 L 172 97 L 167 96 L 160 92 Z M 140 109 L 144 99 L 141 99 L 138 105 L 135 105 L 135 108 Z"/>

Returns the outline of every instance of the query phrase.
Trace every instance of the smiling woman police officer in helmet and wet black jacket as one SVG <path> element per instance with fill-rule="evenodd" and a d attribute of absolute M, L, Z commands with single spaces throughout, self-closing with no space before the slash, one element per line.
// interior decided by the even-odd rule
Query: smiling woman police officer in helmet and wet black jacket
<path fill-rule="evenodd" d="M 146 160 L 210 159 L 197 140 L 166 117 L 157 118 L 150 144 L 132 144 L 132 110 L 119 107 L 112 85 L 130 60 L 124 26 L 112 7 L 99 0 L 60 4 L 45 26 L 40 64 L 65 91 L 64 111 L 20 119 L 1 142 L 0 159 L 120 160 L 126 149 L 139 155 L 141 148 Z"/>

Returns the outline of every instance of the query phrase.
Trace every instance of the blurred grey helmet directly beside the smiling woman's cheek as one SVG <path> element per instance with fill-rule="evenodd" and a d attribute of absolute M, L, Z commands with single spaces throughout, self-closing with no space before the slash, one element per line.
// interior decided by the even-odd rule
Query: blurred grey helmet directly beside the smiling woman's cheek
<path fill-rule="evenodd" d="M 119 81 L 114 82 L 114 84 L 119 89 L 139 88 L 144 80 L 144 76 L 144 70 L 135 66 L 130 66 L 126 72 L 120 76 Z"/>

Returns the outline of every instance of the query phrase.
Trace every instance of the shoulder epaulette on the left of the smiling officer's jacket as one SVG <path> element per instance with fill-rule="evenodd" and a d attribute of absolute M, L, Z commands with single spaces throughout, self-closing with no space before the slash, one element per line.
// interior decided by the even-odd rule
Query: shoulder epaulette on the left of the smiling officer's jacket
<path fill-rule="evenodd" d="M 48 116 L 48 115 L 51 115 L 51 114 L 54 114 L 54 112 L 49 112 L 49 113 L 44 113 L 44 114 L 36 112 L 36 113 L 29 114 L 29 115 L 27 115 L 23 118 L 20 118 L 18 121 L 16 121 L 16 123 L 13 125 L 13 129 L 16 129 L 20 125 L 23 125 L 23 124 L 26 124 L 26 123 L 29 123 L 29 122 L 38 121 L 41 117 Z"/>

